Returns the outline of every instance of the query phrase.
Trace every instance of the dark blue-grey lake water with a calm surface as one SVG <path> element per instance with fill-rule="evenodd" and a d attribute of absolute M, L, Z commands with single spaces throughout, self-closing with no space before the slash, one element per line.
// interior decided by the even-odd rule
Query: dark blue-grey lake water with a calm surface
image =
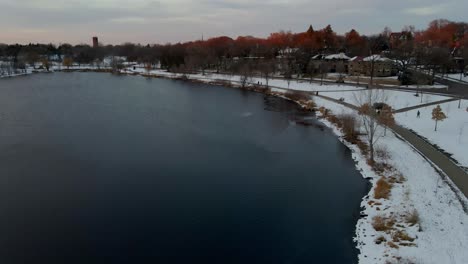
<path fill-rule="evenodd" d="M 366 191 L 350 152 L 280 99 L 0 80 L 0 263 L 354 263 Z"/>

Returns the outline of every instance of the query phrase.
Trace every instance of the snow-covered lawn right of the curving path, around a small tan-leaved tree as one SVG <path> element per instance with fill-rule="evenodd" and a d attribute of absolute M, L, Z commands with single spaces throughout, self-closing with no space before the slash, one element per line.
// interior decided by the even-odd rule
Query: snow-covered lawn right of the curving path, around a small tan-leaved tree
<path fill-rule="evenodd" d="M 395 119 L 445 152 L 453 154 L 455 160 L 468 167 L 468 100 L 461 102 L 460 109 L 458 104 L 459 102 L 455 101 L 440 105 L 447 119 L 439 122 L 437 131 L 434 131 L 435 121 L 432 120 L 432 109 L 435 106 L 400 113 Z M 416 118 L 418 111 L 421 113 L 420 118 Z"/>

